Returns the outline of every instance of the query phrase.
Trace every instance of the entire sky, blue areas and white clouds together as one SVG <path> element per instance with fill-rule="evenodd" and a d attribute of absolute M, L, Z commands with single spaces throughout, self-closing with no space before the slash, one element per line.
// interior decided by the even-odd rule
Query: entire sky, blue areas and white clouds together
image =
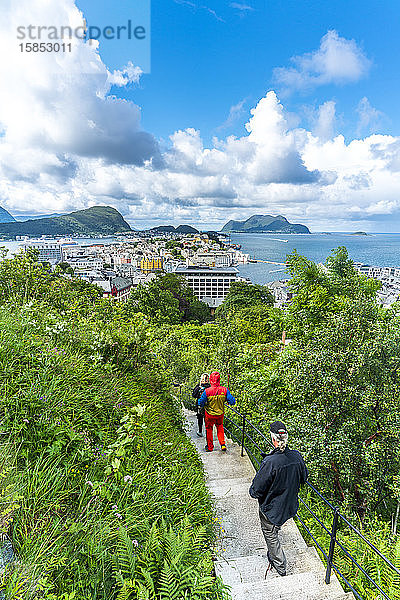
<path fill-rule="evenodd" d="M 111 205 L 138 229 L 282 214 L 400 232 L 398 2 L 153 0 L 151 19 L 150 0 L 3 2 L 11 214 Z M 21 51 L 18 27 L 84 19 L 146 36 Z"/>

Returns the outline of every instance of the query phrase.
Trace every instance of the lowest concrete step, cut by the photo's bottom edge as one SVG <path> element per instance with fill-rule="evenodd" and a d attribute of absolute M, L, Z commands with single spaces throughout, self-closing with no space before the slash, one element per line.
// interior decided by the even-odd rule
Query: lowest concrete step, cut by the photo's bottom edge
<path fill-rule="evenodd" d="M 295 573 L 231 587 L 232 600 L 350 600 L 337 580 L 326 585 L 320 571 Z"/>

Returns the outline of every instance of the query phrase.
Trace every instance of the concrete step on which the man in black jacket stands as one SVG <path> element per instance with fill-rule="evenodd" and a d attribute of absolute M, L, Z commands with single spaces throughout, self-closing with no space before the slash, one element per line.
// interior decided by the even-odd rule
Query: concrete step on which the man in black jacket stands
<path fill-rule="evenodd" d="M 301 552 L 285 548 L 285 555 L 288 575 L 321 569 L 321 561 L 315 548 L 306 548 Z M 222 577 L 224 583 L 230 586 L 256 581 L 263 582 L 267 566 L 266 552 L 230 560 L 219 560 L 214 563 L 216 574 Z M 267 577 L 269 581 L 273 578 L 279 578 L 280 575 L 275 569 L 272 569 L 268 572 Z"/>

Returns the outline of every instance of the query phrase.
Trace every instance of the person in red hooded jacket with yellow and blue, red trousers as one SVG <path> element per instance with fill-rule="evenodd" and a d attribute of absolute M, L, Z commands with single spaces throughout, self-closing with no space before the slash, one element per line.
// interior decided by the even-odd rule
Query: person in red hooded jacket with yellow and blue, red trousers
<path fill-rule="evenodd" d="M 217 428 L 218 441 L 221 444 L 222 452 L 226 452 L 225 434 L 224 434 L 224 409 L 225 402 L 231 406 L 236 404 L 235 398 L 230 391 L 220 386 L 220 374 L 214 371 L 210 374 L 210 387 L 202 393 L 199 406 L 205 407 L 204 422 L 206 425 L 207 445 L 204 450 L 212 452 L 214 450 L 213 428 Z"/>

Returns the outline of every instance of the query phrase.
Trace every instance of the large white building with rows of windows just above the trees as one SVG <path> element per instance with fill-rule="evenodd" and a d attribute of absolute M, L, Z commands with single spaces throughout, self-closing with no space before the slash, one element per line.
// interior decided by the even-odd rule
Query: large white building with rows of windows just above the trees
<path fill-rule="evenodd" d="M 177 275 L 185 277 L 194 295 L 199 300 L 208 304 L 210 308 L 217 308 L 228 295 L 229 288 L 234 281 L 238 281 L 238 270 L 234 267 L 177 267 Z"/>

